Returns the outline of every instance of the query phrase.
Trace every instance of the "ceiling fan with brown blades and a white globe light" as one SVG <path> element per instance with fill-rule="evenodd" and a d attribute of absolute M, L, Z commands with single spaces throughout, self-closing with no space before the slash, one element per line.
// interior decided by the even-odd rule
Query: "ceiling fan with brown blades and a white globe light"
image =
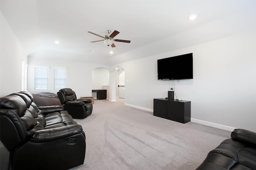
<path fill-rule="evenodd" d="M 130 42 L 131 42 L 130 40 L 114 39 L 114 37 L 119 34 L 119 32 L 116 31 L 116 30 L 115 30 L 112 34 L 110 34 L 110 33 L 111 33 L 110 30 L 107 30 L 107 33 L 108 33 L 108 34 L 106 34 L 105 37 L 103 37 L 103 36 L 101 36 L 101 35 L 98 35 L 98 34 L 96 34 L 96 33 L 93 33 L 93 32 L 91 32 L 91 31 L 88 31 L 88 33 L 91 33 L 91 34 L 93 34 L 93 35 L 97 35 L 97 36 L 103 38 L 102 40 L 91 41 L 91 43 L 96 43 L 96 42 L 104 41 L 104 44 L 106 44 L 107 46 L 110 46 L 110 45 L 111 45 L 111 47 L 116 47 L 116 45 L 114 45 L 114 41 L 122 42 L 122 43 L 130 43 Z"/>

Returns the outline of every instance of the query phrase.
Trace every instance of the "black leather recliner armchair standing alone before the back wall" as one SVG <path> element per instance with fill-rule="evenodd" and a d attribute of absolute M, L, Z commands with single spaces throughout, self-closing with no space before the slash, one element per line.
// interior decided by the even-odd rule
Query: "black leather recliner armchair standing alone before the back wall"
<path fill-rule="evenodd" d="M 92 114 L 92 100 L 77 99 L 76 93 L 70 88 L 62 88 L 57 92 L 60 103 L 64 104 L 64 110 L 74 119 L 84 119 Z"/>

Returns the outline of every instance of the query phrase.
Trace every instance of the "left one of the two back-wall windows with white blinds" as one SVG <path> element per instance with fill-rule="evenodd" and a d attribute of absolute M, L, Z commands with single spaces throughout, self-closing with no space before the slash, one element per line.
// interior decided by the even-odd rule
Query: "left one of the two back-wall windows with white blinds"
<path fill-rule="evenodd" d="M 49 90 L 49 67 L 35 66 L 34 90 Z"/>

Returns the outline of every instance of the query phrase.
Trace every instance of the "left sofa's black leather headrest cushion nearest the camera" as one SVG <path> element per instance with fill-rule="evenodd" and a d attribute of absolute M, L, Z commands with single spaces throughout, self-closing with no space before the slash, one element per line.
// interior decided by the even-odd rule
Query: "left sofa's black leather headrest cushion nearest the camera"
<path fill-rule="evenodd" d="M 12 109 L 21 117 L 27 109 L 27 104 L 20 96 L 10 94 L 0 98 L 0 107 L 1 109 Z"/>

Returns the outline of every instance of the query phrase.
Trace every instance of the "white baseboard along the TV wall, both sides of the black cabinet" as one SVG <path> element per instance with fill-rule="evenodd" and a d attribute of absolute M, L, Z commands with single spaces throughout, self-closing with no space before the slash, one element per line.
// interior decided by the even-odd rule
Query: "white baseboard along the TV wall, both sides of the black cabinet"
<path fill-rule="evenodd" d="M 148 108 L 145 108 L 145 107 L 135 106 L 135 105 L 132 105 L 132 104 L 127 104 L 127 103 L 125 103 L 124 105 L 125 106 L 134 107 L 134 108 L 137 108 L 137 109 L 141 109 L 141 110 L 146 110 L 146 111 L 154 112 L 153 109 L 148 109 Z M 237 129 L 235 127 L 230 127 L 230 126 L 226 126 L 226 125 L 220 125 L 218 123 L 212 123 L 212 122 L 198 120 L 198 119 L 193 119 L 193 118 L 191 118 L 190 120 L 192 122 L 194 122 L 194 123 L 199 123 L 199 124 L 210 126 L 210 127 L 216 127 L 218 129 L 223 129 L 223 130 L 226 130 L 226 131 L 234 131 L 234 129 Z"/>

